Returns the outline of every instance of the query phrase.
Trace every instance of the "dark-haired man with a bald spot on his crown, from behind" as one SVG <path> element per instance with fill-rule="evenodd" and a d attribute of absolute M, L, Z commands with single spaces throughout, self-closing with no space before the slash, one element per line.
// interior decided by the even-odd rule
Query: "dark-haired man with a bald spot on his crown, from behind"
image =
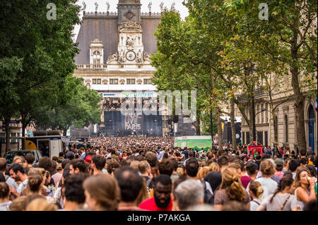
<path fill-rule="evenodd" d="M 136 169 L 130 166 L 123 166 L 114 171 L 114 177 L 118 181 L 121 195 L 118 210 L 141 211 L 141 209 L 137 207 L 137 199 L 142 193 L 143 177 L 139 175 Z"/>

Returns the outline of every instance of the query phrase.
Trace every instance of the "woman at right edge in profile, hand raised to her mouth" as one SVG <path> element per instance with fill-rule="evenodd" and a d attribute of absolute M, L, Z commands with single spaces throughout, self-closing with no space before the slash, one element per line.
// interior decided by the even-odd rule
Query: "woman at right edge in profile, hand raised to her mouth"
<path fill-rule="evenodd" d="M 310 177 L 310 171 L 301 167 L 295 176 L 295 197 L 298 204 L 298 210 L 302 211 L 305 203 L 316 199 L 314 190 L 314 178 Z"/>

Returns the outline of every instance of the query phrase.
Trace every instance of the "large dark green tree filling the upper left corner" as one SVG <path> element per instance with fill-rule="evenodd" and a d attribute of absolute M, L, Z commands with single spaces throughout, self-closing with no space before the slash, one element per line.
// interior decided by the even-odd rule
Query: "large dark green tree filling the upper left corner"
<path fill-rule="evenodd" d="M 57 0 L 57 19 L 47 19 L 47 4 L 51 1 L 22 0 L 0 2 L 0 60 L 4 90 L 0 99 L 3 104 L 0 116 L 5 121 L 11 118 L 26 117 L 30 106 L 25 99 L 49 83 L 63 80 L 75 69 L 74 56 L 78 49 L 73 43 L 73 25 L 80 22 L 79 6 L 75 0 Z M 8 59 L 6 61 L 6 59 Z M 17 70 L 17 65 L 20 65 Z M 8 69 L 12 68 L 12 69 Z M 10 79 L 6 80 L 6 77 Z M 11 88 L 11 85 L 13 88 Z M 56 90 L 57 91 L 57 90 Z M 6 105 L 6 107 L 3 107 Z M 20 115 L 19 115 L 20 114 Z M 26 119 L 28 121 L 28 119 Z M 7 140 L 8 134 L 7 129 Z M 8 150 L 9 142 L 6 143 Z"/>

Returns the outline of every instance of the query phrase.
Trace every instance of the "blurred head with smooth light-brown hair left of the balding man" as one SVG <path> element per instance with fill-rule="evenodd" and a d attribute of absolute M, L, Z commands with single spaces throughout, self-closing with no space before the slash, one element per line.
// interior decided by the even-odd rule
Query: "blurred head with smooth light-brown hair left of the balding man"
<path fill-rule="evenodd" d="M 120 201 L 117 180 L 109 174 L 90 176 L 83 183 L 86 203 L 93 211 L 115 211 Z"/>

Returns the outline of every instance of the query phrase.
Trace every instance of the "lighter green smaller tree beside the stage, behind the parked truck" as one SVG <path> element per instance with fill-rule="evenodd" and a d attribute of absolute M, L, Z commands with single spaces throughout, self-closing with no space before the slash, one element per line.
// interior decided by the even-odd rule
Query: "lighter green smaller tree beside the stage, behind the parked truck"
<path fill-rule="evenodd" d="M 37 128 L 63 130 L 66 135 L 71 125 L 83 128 L 100 122 L 100 95 L 83 85 L 82 78 L 67 77 L 63 90 L 69 96 L 66 102 L 57 107 L 40 107 L 35 111 L 33 118 Z"/>

